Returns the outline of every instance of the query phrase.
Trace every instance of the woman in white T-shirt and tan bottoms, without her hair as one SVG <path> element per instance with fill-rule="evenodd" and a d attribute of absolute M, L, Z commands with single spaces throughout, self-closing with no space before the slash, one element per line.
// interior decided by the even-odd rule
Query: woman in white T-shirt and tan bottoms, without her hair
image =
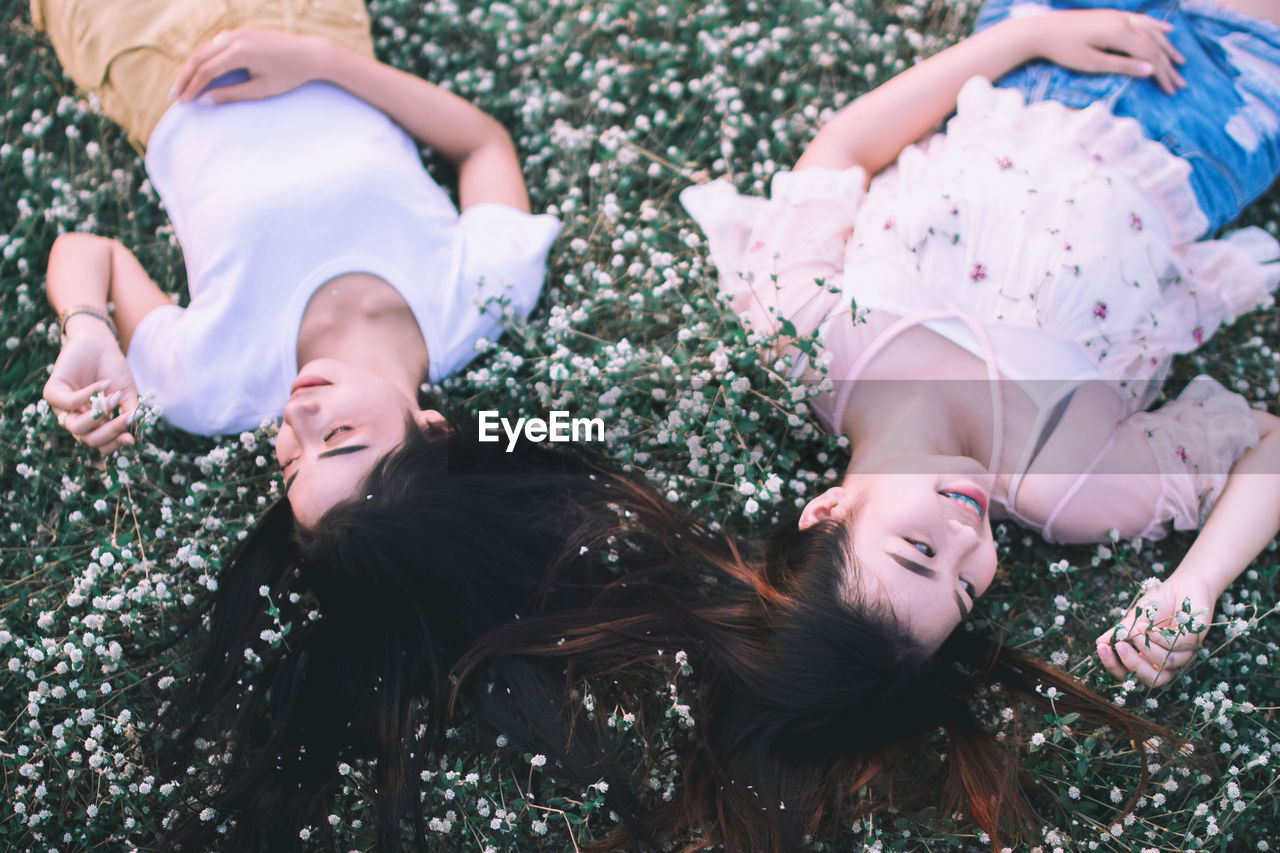
<path fill-rule="evenodd" d="M 264 4 L 253 27 L 218 5 L 33 4 L 77 82 L 145 146 L 191 291 L 178 307 L 123 245 L 64 234 L 45 398 L 104 453 L 133 442 L 140 394 L 209 435 L 283 415 L 276 455 L 311 526 L 406 418 L 435 419 L 420 386 L 500 333 L 498 300 L 532 310 L 559 224 L 529 214 L 502 126 L 371 56 L 360 3 L 288 19 Z M 419 143 L 457 167 L 461 214 Z"/>

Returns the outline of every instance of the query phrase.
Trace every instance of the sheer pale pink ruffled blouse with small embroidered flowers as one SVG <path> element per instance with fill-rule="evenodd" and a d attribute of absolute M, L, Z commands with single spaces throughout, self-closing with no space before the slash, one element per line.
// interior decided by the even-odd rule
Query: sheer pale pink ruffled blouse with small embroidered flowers
<path fill-rule="evenodd" d="M 859 168 L 806 169 L 774 175 L 768 201 L 724 182 L 681 200 L 750 325 L 820 332 L 838 380 L 817 401 L 828 428 L 867 365 L 923 325 L 1030 401 L 1015 415 L 991 394 L 991 464 L 1012 460 L 996 471 L 997 508 L 1050 540 L 1089 542 L 1199 526 L 1257 442 L 1247 401 L 1208 378 L 1144 411 L 1171 356 L 1268 304 L 1280 279 L 1261 229 L 1193 242 L 1204 219 L 1187 174 L 1130 119 L 1028 106 L 975 78 L 946 133 L 869 190 Z"/>

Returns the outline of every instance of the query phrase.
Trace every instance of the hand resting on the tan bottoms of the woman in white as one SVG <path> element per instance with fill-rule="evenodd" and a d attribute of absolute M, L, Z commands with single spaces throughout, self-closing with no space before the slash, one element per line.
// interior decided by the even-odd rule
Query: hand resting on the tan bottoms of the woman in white
<path fill-rule="evenodd" d="M 180 101 L 227 104 L 292 92 L 316 79 L 319 36 L 298 36 L 276 29 L 241 27 L 218 33 L 191 55 L 178 72 L 172 95 Z M 241 73 L 242 82 L 218 86 L 210 83 Z M 247 72 L 247 79 L 243 73 Z M 234 79 L 230 77 L 229 79 Z"/>

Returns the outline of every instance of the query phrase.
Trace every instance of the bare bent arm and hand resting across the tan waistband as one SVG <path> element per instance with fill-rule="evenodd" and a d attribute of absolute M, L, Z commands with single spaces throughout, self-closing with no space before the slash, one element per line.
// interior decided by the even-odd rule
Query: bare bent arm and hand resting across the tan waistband
<path fill-rule="evenodd" d="M 250 78 L 201 95 L 211 81 L 236 69 L 247 69 Z M 453 163 L 463 210 L 479 202 L 529 210 L 515 145 L 492 115 L 434 83 L 319 36 L 252 28 L 223 33 L 192 54 L 174 92 L 184 101 L 198 96 L 224 104 L 280 95 L 310 81 L 344 88 Z"/>

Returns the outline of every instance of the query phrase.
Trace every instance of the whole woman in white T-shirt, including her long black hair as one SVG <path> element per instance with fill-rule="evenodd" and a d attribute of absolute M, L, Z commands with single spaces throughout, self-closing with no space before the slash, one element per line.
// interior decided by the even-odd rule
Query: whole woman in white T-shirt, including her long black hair
<path fill-rule="evenodd" d="M 374 59 L 360 0 L 33 0 L 32 17 L 145 150 L 191 291 L 178 307 L 119 242 L 61 236 L 45 398 L 102 453 L 133 443 L 143 396 L 201 434 L 282 418 L 285 498 L 192 608 L 207 637 L 159 762 L 180 774 L 232 731 L 210 804 L 236 829 L 189 815 L 166 847 L 297 845 L 328 829 L 339 757 L 374 762 L 380 847 L 410 815 L 421 844 L 452 662 L 530 606 L 594 487 L 573 460 L 485 452 L 419 391 L 497 337 L 502 309 L 532 310 L 559 223 L 530 215 L 500 124 Z M 461 213 L 420 143 L 456 167 Z M 294 630 L 248 666 L 274 607 Z"/>

